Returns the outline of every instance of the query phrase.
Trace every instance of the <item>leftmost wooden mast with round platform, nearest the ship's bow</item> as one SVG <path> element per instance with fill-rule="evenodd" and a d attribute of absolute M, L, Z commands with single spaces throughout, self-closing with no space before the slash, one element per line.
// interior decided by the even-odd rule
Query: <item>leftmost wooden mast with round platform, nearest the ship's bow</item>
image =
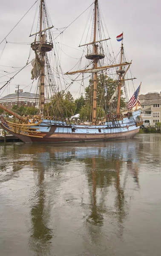
<path fill-rule="evenodd" d="M 43 13 L 44 12 L 44 13 Z M 48 42 L 46 38 L 46 30 L 51 29 L 49 28 L 43 28 L 43 25 L 46 23 L 43 21 L 43 17 L 46 17 L 45 12 L 45 3 L 44 0 L 40 0 L 40 31 L 35 33 L 38 34 L 38 41 L 35 41 L 31 44 L 31 48 L 35 51 L 36 59 L 40 64 L 40 111 L 41 113 L 44 113 L 44 105 L 45 105 L 45 93 L 44 93 L 44 87 L 45 87 L 45 55 L 46 52 L 49 52 L 53 48 L 52 42 Z M 39 52 L 39 56 L 37 55 L 37 52 Z"/>

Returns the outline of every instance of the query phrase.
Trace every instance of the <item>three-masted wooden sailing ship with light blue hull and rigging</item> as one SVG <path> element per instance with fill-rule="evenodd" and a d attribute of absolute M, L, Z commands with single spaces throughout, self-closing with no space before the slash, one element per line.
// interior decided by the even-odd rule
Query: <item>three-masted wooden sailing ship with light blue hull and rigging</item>
<path fill-rule="evenodd" d="M 127 75 L 132 61 L 126 61 L 124 55 L 123 33 L 117 37 L 121 45 L 120 55 L 109 57 L 107 43 L 110 38 L 103 37 L 105 33 L 98 0 L 92 5 L 92 15 L 89 42 L 79 45 L 83 49 L 80 62 L 83 59 L 86 61 L 83 62 L 83 68 L 79 65 L 78 70 L 63 74 L 68 81 L 71 80 L 66 88 L 60 90 L 58 83 L 62 79 L 58 75 L 55 79 L 55 70 L 51 65 L 52 51 L 56 56 L 53 26 L 50 24 L 45 0 L 40 0 L 37 32 L 32 35 L 35 39 L 31 44 L 35 52 L 31 63 L 32 79 L 37 80 L 38 107 L 34 113 L 28 113 L 27 110 L 26 113 L 18 113 L 18 108 L 13 111 L 0 104 L 3 111 L 14 116 L 13 119 L 1 116 L 1 126 L 9 134 L 24 143 L 68 143 L 127 139 L 138 133 L 142 125 L 139 101 L 141 84 L 129 99 L 126 83 L 133 82 L 135 78 L 128 78 Z M 80 87 L 86 87 L 86 98 L 83 99 L 79 113 L 75 112 L 76 107 L 75 111 L 69 109 L 70 93 L 66 93 L 69 85 L 75 82 Z M 69 99 L 65 104 L 67 96 Z"/>

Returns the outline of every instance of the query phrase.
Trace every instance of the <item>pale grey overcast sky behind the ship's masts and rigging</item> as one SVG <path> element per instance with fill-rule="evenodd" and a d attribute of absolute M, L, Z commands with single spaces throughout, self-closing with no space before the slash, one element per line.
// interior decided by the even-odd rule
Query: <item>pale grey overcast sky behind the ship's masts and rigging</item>
<path fill-rule="evenodd" d="M 46 0 L 50 17 L 55 28 L 68 26 L 78 17 L 90 4 L 92 0 Z M 20 18 L 35 3 L 35 0 L 2 0 L 0 4 L 0 41 L 10 32 Z M 118 52 L 120 42 L 116 36 L 124 31 L 124 46 L 128 59 L 132 59 L 132 74 L 137 78 L 135 89 L 142 82 L 141 93 L 150 91 L 161 91 L 161 1 L 159 0 L 99 0 L 99 5 L 109 32 L 114 52 Z M 18 26 L 6 38 L 8 42 L 26 43 L 32 42 L 29 38 L 36 5 L 23 18 Z M 63 33 L 62 43 L 77 48 L 80 44 L 82 32 L 88 17 L 85 12 L 74 24 L 69 26 Z M 35 31 L 32 31 L 33 33 Z M 56 34 L 55 34 L 56 36 Z M 108 38 L 108 35 L 107 35 Z M 83 43 L 83 42 L 82 42 Z M 11 71 L 11 68 L 23 67 L 29 56 L 30 45 L 17 45 L 8 43 L 2 50 L 5 41 L 0 44 L 0 87 L 9 77 L 3 76 L 4 71 Z M 61 58 L 63 71 L 75 65 L 80 56 L 78 50 L 63 48 L 64 55 Z M 69 55 L 69 56 L 67 56 Z M 34 57 L 34 55 L 33 55 Z M 67 58 L 68 57 L 68 58 Z M 10 86 L 0 91 L 0 96 L 13 93 L 15 84 L 20 88 L 29 91 L 31 67 L 26 68 L 22 75 L 14 78 Z M 14 70 L 13 70 L 14 71 Z M 28 71 L 28 72 L 27 72 Z M 3 77 L 2 77 L 3 76 Z M 26 87 L 26 88 L 25 88 Z M 34 90 L 34 89 L 32 89 Z M 3 95 L 2 95 L 3 93 Z"/>

